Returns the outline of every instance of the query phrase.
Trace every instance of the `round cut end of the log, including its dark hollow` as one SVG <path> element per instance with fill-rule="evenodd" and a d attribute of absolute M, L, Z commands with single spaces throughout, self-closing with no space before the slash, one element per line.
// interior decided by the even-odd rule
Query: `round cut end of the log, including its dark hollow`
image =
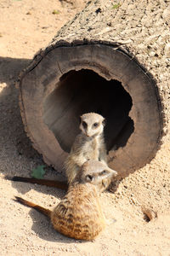
<path fill-rule="evenodd" d="M 39 61 L 39 60 L 38 60 Z M 44 160 L 62 168 L 79 132 L 79 116 L 106 119 L 109 165 L 121 177 L 149 163 L 160 147 L 156 82 L 123 49 L 107 44 L 54 47 L 20 80 L 26 131 Z"/>

